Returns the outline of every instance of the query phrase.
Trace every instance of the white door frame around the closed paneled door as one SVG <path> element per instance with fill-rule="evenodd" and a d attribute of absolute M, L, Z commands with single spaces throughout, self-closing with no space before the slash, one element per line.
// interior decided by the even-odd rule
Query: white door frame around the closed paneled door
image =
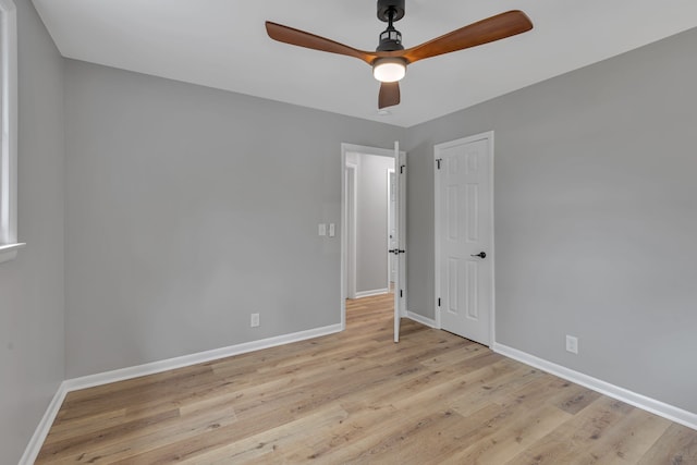
<path fill-rule="evenodd" d="M 494 210 L 493 210 L 493 194 L 494 194 L 494 175 L 493 175 L 493 155 L 494 155 L 494 149 L 493 149 L 493 131 L 488 131 L 486 133 L 480 133 L 480 134 L 475 134 L 472 136 L 467 136 L 467 137 L 462 137 L 455 140 L 450 140 L 450 142 L 445 142 L 445 143 L 441 143 L 441 144 L 436 144 L 433 146 L 433 210 L 435 210 L 435 217 L 433 217 L 433 252 L 435 252 L 435 269 L 433 269 L 433 282 L 435 282 L 435 286 L 433 286 L 433 315 L 436 316 L 436 328 L 437 329 L 442 329 L 441 326 L 441 309 L 440 306 L 438 305 L 438 294 L 440 293 L 440 286 L 441 286 L 441 272 L 440 272 L 440 248 L 441 248 L 441 244 L 440 244 L 440 233 L 441 233 L 441 215 L 440 215 L 440 201 L 441 201 L 441 195 L 440 195 L 440 187 L 441 187 L 441 182 L 440 182 L 440 176 L 438 175 L 438 159 L 440 158 L 440 151 L 445 149 L 445 148 L 450 148 L 452 146 L 456 146 L 456 145 L 462 145 L 462 144 L 468 144 L 470 142 L 475 142 L 475 140 L 480 140 L 480 139 L 488 139 L 489 140 L 489 188 L 490 188 L 490 198 L 491 198 L 491 237 L 489 237 L 489 240 L 491 241 L 491 252 L 490 254 L 487 256 L 487 258 L 490 257 L 491 259 L 491 314 L 490 314 L 490 318 L 489 318 L 489 346 L 493 347 L 494 343 L 496 343 L 496 244 L 494 244 Z"/>

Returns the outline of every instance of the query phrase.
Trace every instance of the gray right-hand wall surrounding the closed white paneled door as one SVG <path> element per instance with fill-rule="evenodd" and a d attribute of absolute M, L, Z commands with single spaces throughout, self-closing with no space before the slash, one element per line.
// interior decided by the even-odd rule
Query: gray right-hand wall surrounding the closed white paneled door
<path fill-rule="evenodd" d="M 433 316 L 433 145 L 494 130 L 498 342 L 697 413 L 696 46 L 411 129 L 409 309 Z"/>

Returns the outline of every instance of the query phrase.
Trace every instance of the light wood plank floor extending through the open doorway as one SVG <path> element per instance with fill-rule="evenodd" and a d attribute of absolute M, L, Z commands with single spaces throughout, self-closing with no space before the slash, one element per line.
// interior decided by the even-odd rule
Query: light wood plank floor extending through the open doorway
<path fill-rule="evenodd" d="M 348 301 L 343 333 L 72 392 L 37 463 L 697 464 L 697 431 Z"/>

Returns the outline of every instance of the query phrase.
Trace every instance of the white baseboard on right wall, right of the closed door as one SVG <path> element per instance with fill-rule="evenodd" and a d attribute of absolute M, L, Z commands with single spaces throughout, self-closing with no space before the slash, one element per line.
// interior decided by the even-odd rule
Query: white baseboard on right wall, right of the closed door
<path fill-rule="evenodd" d="M 535 368 L 539 368 L 567 381 L 572 381 L 585 388 L 592 389 L 594 391 L 600 392 L 601 394 L 604 394 L 609 397 L 616 399 L 629 405 L 634 405 L 635 407 L 639 407 L 652 414 L 659 415 L 671 421 L 675 421 L 683 426 L 697 430 L 697 414 L 694 414 L 692 412 L 678 408 L 661 401 L 657 401 L 656 399 L 647 397 L 646 395 L 638 394 L 624 388 L 620 388 L 619 386 L 611 384 L 607 381 L 602 381 L 588 375 L 574 371 L 570 368 L 557 365 L 543 358 L 536 357 L 535 355 L 530 355 L 526 352 L 518 351 L 517 348 L 509 347 L 499 343 L 494 343 L 491 348 L 493 350 L 493 352 L 505 355 L 506 357 L 516 359 Z"/>

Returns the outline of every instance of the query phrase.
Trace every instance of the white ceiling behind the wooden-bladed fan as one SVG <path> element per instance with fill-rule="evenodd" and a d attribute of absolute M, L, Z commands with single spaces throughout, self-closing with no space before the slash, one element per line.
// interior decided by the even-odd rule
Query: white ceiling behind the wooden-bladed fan
<path fill-rule="evenodd" d="M 407 48 L 509 10 L 535 28 L 414 63 L 402 103 L 379 115 L 369 66 L 264 27 L 375 50 L 375 0 L 33 1 L 64 57 L 407 127 L 697 26 L 696 0 L 406 0 Z"/>

